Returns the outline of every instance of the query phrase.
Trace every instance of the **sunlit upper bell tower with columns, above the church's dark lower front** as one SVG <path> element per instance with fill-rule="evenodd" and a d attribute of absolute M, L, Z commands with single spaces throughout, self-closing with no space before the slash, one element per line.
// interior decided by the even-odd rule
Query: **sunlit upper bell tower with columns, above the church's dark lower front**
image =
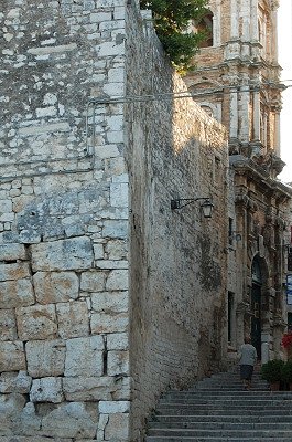
<path fill-rule="evenodd" d="M 229 134 L 230 155 L 280 160 L 281 67 L 277 0 L 210 0 L 208 20 L 193 23 L 208 40 L 185 78 L 194 99 Z"/>

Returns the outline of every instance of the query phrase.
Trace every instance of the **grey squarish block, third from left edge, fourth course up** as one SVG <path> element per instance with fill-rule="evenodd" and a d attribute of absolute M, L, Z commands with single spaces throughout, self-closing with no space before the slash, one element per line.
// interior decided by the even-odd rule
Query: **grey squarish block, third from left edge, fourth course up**
<path fill-rule="evenodd" d="M 85 301 L 56 304 L 58 335 L 74 338 L 89 335 L 88 308 Z"/>

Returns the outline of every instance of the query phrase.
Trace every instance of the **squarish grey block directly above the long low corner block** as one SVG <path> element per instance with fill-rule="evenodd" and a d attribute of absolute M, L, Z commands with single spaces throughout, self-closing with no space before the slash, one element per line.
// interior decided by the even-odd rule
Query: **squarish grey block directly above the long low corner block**
<path fill-rule="evenodd" d="M 101 336 L 66 341 L 65 376 L 101 376 L 104 340 Z"/>

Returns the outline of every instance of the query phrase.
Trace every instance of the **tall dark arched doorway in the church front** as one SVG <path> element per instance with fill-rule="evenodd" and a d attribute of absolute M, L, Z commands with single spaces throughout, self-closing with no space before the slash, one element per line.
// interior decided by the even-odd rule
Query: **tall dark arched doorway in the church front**
<path fill-rule="evenodd" d="M 250 335 L 251 344 L 256 347 L 258 358 L 261 359 L 261 292 L 262 292 L 262 273 L 258 256 L 252 261 L 251 265 L 251 324 Z"/>

